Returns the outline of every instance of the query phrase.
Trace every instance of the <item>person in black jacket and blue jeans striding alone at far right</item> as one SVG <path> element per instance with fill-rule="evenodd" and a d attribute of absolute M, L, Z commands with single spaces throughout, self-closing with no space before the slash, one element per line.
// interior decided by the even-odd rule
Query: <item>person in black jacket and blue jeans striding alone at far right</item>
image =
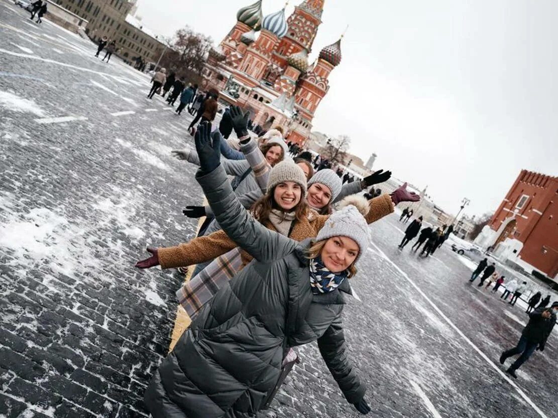
<path fill-rule="evenodd" d="M 521 356 L 506 370 L 508 375 L 517 379 L 516 370 L 532 356 L 536 349 L 539 351 L 545 349 L 546 340 L 556 323 L 557 313 L 558 302 L 554 302 L 550 308 L 537 308 L 529 314 L 529 322 L 523 328 L 517 346 L 504 351 L 500 356 L 500 364 L 504 364 L 508 357 L 521 353 Z"/>

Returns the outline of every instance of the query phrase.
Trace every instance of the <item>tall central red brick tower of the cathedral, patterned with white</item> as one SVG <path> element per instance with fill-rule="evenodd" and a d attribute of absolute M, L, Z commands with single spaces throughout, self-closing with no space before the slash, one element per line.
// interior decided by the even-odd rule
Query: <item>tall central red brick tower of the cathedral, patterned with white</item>
<path fill-rule="evenodd" d="M 287 57 L 305 49 L 312 51 L 312 43 L 321 23 L 324 0 L 304 0 L 287 19 L 288 31 L 273 51 L 273 62 L 282 68 Z"/>

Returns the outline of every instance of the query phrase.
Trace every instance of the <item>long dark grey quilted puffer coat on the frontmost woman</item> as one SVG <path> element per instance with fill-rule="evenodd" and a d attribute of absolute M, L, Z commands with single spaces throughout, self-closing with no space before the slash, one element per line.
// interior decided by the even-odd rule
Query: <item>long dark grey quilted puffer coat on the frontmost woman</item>
<path fill-rule="evenodd" d="M 223 230 L 254 260 L 205 305 L 145 393 L 155 418 L 246 418 L 275 386 L 288 347 L 318 341 L 321 356 L 348 402 L 364 396 L 341 327 L 345 280 L 338 289 L 310 289 L 310 240 L 268 230 L 240 205 L 219 166 L 198 173 Z"/>

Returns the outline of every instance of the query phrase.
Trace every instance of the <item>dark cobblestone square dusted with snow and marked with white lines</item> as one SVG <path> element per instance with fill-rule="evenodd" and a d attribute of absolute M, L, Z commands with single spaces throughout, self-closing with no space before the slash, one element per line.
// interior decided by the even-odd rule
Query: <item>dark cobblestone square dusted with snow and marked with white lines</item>
<path fill-rule="evenodd" d="M 193 145 L 190 118 L 147 100 L 147 76 L 27 16 L 0 0 L 0 417 L 145 416 L 181 278 L 133 263 L 193 236 L 181 209 L 201 200 L 195 168 L 170 157 Z M 468 285 L 447 244 L 426 260 L 398 250 L 397 219 L 371 227 L 362 301 L 344 313 L 371 415 L 558 417 L 558 333 L 509 380 L 497 360 L 523 310 Z M 315 344 L 297 351 L 259 416 L 359 416 Z"/>

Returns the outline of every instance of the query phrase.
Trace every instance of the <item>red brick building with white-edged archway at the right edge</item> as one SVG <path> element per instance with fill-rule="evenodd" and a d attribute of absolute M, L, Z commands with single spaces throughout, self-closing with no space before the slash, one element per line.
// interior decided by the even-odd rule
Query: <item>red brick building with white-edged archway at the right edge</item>
<path fill-rule="evenodd" d="M 475 242 L 531 273 L 558 274 L 558 177 L 522 170 Z"/>

